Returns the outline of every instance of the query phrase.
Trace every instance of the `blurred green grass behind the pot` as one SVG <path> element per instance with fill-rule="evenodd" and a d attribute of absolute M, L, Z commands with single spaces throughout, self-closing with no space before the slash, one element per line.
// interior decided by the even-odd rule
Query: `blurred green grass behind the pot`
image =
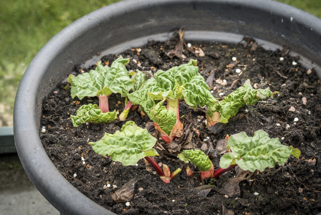
<path fill-rule="evenodd" d="M 32 58 L 73 21 L 120 0 L 0 0 L 0 126 L 12 125 L 14 97 Z M 279 0 L 321 17 L 321 0 Z"/>

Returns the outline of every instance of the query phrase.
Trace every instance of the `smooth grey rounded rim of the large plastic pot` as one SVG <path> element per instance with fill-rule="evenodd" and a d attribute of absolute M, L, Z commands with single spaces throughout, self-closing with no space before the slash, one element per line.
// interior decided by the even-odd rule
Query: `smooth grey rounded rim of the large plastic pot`
<path fill-rule="evenodd" d="M 273 12 L 286 18 L 294 17 L 296 23 L 313 28 L 321 35 L 321 20 L 308 12 L 272 0 L 199 0 L 197 4 L 215 2 L 242 5 L 260 11 Z M 40 193 L 62 214 L 115 214 L 91 201 L 72 186 L 56 169 L 44 150 L 36 123 L 38 91 L 46 71 L 64 46 L 99 25 L 101 17 L 108 19 L 119 14 L 174 3 L 195 3 L 195 0 L 124 0 L 105 6 L 74 21 L 56 34 L 33 58 L 20 82 L 14 105 L 14 140 L 17 153 L 32 183 Z M 39 105 L 39 104 L 38 104 Z M 39 105 L 41 107 L 41 105 Z"/>

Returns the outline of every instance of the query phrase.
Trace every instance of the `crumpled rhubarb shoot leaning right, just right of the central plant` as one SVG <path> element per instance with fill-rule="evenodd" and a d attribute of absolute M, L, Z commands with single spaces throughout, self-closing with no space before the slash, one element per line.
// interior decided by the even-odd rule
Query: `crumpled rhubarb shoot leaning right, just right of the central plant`
<path fill-rule="evenodd" d="M 242 87 L 223 97 L 222 101 L 207 107 L 207 126 L 213 126 L 218 122 L 228 123 L 229 119 L 235 116 L 241 107 L 256 104 L 267 97 L 273 97 L 270 88 L 253 89 L 251 83 L 246 81 Z"/>

